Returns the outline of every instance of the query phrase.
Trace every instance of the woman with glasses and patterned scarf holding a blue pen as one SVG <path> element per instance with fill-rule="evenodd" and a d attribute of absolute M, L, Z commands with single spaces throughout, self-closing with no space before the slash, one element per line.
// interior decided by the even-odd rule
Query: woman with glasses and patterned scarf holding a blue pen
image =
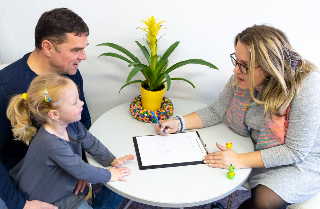
<path fill-rule="evenodd" d="M 214 168 L 228 169 L 231 163 L 237 169 L 252 168 L 252 196 L 239 208 L 303 202 L 320 191 L 320 73 L 279 29 L 254 25 L 234 43 L 234 74 L 218 98 L 155 128 L 167 135 L 225 120 L 236 133 L 251 137 L 256 151 L 238 154 L 217 143 L 221 151 L 203 160 Z"/>

